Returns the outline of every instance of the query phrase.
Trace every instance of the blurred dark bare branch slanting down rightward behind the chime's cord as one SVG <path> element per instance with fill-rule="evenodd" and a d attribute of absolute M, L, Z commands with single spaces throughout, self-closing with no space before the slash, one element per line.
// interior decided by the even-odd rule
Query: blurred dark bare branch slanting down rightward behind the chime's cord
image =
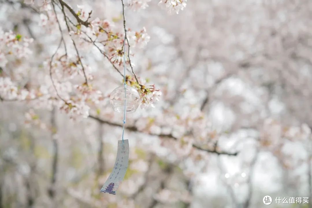
<path fill-rule="evenodd" d="M 110 121 L 105 121 L 105 120 L 102 120 L 98 117 L 95 117 L 93 115 L 90 115 L 89 116 L 90 118 L 92 119 L 95 119 L 101 123 L 105 123 L 105 124 L 108 124 L 110 126 L 115 126 L 115 127 L 122 127 L 121 124 L 118 124 L 118 123 L 113 123 L 113 122 L 110 122 Z M 126 126 L 125 129 L 129 130 L 129 131 L 132 131 L 132 132 L 138 132 L 138 133 L 145 133 L 145 134 L 148 134 L 148 135 L 151 135 L 151 136 L 158 136 L 158 137 L 163 137 L 163 138 L 168 138 L 168 139 L 173 139 L 173 140 L 178 140 L 177 137 L 174 137 L 172 134 L 155 134 L 155 133 L 146 133 L 146 132 L 143 132 L 143 131 L 140 131 L 137 127 L 135 126 Z M 225 151 L 218 151 L 217 148 L 215 147 L 214 149 L 205 149 L 205 148 L 201 148 L 199 147 L 198 145 L 196 144 L 193 144 L 193 148 L 195 149 L 198 149 L 198 150 L 202 150 L 202 151 L 205 151 L 205 152 L 209 152 L 209 153 L 214 153 L 214 154 L 217 154 L 217 155 L 230 155 L 230 156 L 236 156 L 238 154 L 238 152 L 225 152 Z"/>

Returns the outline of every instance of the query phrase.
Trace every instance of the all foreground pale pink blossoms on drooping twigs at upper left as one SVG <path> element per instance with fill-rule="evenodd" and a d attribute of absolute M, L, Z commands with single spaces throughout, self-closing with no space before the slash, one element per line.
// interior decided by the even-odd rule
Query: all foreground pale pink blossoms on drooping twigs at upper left
<path fill-rule="evenodd" d="M 50 0 L 25 1 L 25 3 L 38 6 L 40 11 L 44 11 L 39 15 L 38 25 L 44 28 L 46 34 L 51 34 L 52 31 L 58 29 L 57 22 L 60 23 L 61 32 L 63 32 L 62 28 L 66 28 L 63 14 L 60 11 L 55 12 L 52 10 Z M 76 43 L 77 49 L 84 51 L 90 50 L 92 48 L 90 46 L 96 46 L 111 64 L 119 69 L 124 67 L 125 56 L 127 57 L 125 60 L 126 67 L 130 68 L 128 57 L 133 56 L 133 52 L 128 51 L 128 41 L 131 50 L 143 48 L 150 39 L 146 29 L 143 28 L 140 31 L 127 29 L 128 41 L 124 42 L 123 27 L 116 27 L 114 23 L 106 19 L 95 18 L 91 20 L 91 13 L 92 11 L 90 8 L 88 10 L 87 6 L 78 6 L 76 15 L 80 18 L 80 21 L 77 21 L 77 25 L 71 21 L 69 22 L 72 29 L 72 31 L 69 31 L 69 36 Z M 67 37 L 64 34 L 64 41 Z M 3 32 L 0 30 L 0 67 L 4 68 L 8 62 L 11 62 L 12 57 L 14 59 L 28 57 L 32 53 L 28 48 L 29 43 L 32 41 L 33 39 L 23 38 L 12 31 Z M 52 59 L 51 57 L 47 58 L 42 66 L 48 74 L 45 77 L 43 75 L 44 80 L 37 80 L 36 83 L 28 87 L 19 86 L 16 77 L 1 77 L 1 98 L 32 100 L 37 107 L 41 106 L 48 109 L 51 109 L 54 105 L 74 119 L 77 116 L 88 117 L 90 106 L 99 104 L 104 97 L 99 90 L 93 89 L 91 69 L 85 64 L 83 56 L 73 55 L 72 52 L 75 51 L 71 50 L 73 49 L 71 47 L 67 45 L 67 51 L 60 49 L 56 51 Z M 124 54 L 124 51 L 126 54 Z M 133 63 L 132 65 L 134 66 Z M 4 71 L 2 68 L 0 68 L 0 72 Z M 82 84 L 79 84 L 81 82 Z M 138 83 L 134 77 L 130 76 L 127 78 L 127 82 L 132 86 L 135 85 L 139 91 L 142 98 L 142 108 L 154 107 L 154 102 L 161 95 L 160 90 L 156 89 L 155 85 L 144 85 L 145 80 L 140 80 Z"/>

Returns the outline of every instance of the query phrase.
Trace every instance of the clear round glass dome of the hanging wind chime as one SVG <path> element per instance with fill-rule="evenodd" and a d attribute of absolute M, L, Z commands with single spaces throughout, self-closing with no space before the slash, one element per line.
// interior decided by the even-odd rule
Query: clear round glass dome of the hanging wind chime
<path fill-rule="evenodd" d="M 110 94 L 110 104 L 118 113 L 124 113 L 124 91 L 126 90 L 126 112 L 134 112 L 139 107 L 140 95 L 134 88 L 117 87 Z"/>

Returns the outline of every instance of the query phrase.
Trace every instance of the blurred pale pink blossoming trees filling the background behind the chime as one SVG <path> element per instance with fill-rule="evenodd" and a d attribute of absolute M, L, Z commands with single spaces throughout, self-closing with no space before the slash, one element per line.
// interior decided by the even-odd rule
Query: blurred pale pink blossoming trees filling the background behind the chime
<path fill-rule="evenodd" d="M 66 3 L 123 32 L 119 0 Z M 61 36 L 42 24 L 52 12 L 42 4 L 51 7 L 0 1 L 1 29 L 34 39 L 29 58 L 2 65 L 0 77 L 19 88 L 50 82 L 44 61 Z M 189 0 L 178 14 L 163 1 L 125 5 L 127 27 L 150 37 L 133 48 L 134 70 L 162 95 L 127 114 L 129 167 L 117 195 L 99 190 L 121 139 L 109 94 L 122 77 L 77 44 L 104 99 L 78 119 L 51 103 L 0 101 L 0 207 L 311 208 L 275 198 L 312 200 L 312 1 Z"/>

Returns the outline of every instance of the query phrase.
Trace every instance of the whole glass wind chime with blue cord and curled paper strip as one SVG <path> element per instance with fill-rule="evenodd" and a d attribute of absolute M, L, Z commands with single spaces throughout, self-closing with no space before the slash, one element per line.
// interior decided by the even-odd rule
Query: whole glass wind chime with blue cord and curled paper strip
<path fill-rule="evenodd" d="M 126 123 L 126 112 L 134 112 L 139 106 L 140 95 L 134 88 L 126 84 L 126 50 L 125 50 L 126 34 L 124 36 L 124 86 L 117 87 L 110 94 L 110 104 L 114 111 L 124 114 L 122 140 L 118 141 L 117 157 L 114 168 L 110 176 L 101 188 L 101 192 L 116 194 L 121 181 L 124 179 L 128 168 L 129 161 L 129 142 L 124 139 L 124 124 Z"/>

